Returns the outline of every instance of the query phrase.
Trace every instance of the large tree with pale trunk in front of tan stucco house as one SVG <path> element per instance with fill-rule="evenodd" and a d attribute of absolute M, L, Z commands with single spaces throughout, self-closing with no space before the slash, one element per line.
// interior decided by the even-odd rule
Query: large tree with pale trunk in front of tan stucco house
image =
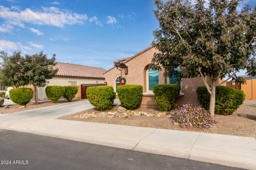
<path fill-rule="evenodd" d="M 241 2 L 155 1 L 159 29 L 154 31 L 153 46 L 159 52 L 151 66 L 164 67 L 168 76 L 201 77 L 211 96 L 212 116 L 216 86 L 236 77 L 239 70 L 256 75 L 256 6 L 240 11 Z"/>

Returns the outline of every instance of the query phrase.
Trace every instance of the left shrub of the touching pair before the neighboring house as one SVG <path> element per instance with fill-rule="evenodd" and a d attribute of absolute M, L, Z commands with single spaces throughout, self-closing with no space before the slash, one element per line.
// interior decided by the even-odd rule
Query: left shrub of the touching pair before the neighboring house
<path fill-rule="evenodd" d="M 64 88 L 62 86 L 47 86 L 45 93 L 52 103 L 56 103 L 63 96 Z"/>

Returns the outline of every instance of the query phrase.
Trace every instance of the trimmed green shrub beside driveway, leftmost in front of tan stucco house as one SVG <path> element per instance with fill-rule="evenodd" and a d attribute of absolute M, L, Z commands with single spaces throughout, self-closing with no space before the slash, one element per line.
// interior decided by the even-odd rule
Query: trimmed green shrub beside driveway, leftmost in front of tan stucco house
<path fill-rule="evenodd" d="M 99 111 L 107 111 L 113 107 L 116 94 L 111 86 L 97 86 L 86 89 L 87 99 Z"/>

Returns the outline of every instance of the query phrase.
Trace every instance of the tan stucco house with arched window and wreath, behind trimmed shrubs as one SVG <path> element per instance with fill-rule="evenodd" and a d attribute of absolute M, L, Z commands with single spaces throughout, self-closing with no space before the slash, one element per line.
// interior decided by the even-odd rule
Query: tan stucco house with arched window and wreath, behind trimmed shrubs
<path fill-rule="evenodd" d="M 178 80 L 176 77 L 164 77 L 164 69 L 159 72 L 149 69 L 148 66 L 155 52 L 157 50 L 150 46 L 132 57 L 115 61 L 114 67 L 104 73 L 107 84 L 113 86 L 115 91 L 121 77 L 126 79 L 126 84 L 139 84 L 143 87 L 141 106 L 156 107 L 152 87 L 156 84 L 179 83 L 181 90 L 177 104 L 188 102 L 197 104 L 196 88 L 204 85 L 202 78 Z"/>

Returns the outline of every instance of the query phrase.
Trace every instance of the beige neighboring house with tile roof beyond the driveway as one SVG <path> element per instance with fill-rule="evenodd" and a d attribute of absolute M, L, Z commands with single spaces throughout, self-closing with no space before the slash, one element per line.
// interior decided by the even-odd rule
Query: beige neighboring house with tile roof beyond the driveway
<path fill-rule="evenodd" d="M 47 86 L 77 86 L 78 93 L 76 98 L 87 98 L 86 88 L 89 86 L 100 86 L 105 82 L 103 73 L 105 69 L 99 67 L 60 63 L 57 62 L 55 67 L 58 73 L 54 78 L 49 80 Z M 45 87 L 38 88 L 38 99 L 46 99 Z"/>

